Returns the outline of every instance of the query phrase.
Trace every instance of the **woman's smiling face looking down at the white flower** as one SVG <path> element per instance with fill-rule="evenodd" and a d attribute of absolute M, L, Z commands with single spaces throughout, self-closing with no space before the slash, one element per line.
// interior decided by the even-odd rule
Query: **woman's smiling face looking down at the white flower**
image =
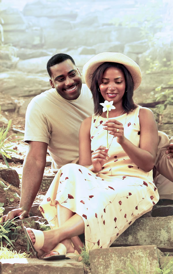
<path fill-rule="evenodd" d="M 105 70 L 101 85 L 99 85 L 101 95 L 108 102 L 114 104 L 122 102 L 125 93 L 125 78 L 121 70 L 116 67 L 109 67 Z"/>

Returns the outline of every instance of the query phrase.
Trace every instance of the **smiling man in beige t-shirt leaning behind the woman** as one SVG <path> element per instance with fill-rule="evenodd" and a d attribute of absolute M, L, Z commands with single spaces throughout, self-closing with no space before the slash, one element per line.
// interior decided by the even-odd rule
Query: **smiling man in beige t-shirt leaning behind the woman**
<path fill-rule="evenodd" d="M 42 182 L 47 149 L 52 157 L 53 172 L 72 162 L 78 157 L 80 124 L 93 113 L 91 92 L 82 84 L 81 74 L 71 56 L 54 55 L 47 63 L 47 71 L 51 89 L 34 97 L 26 112 L 24 141 L 29 143 L 29 150 L 23 165 L 20 205 L 3 216 L 2 222 L 16 216 L 20 219 L 29 216 Z M 166 155 L 167 147 L 168 153 L 173 153 L 168 136 L 160 134 L 165 137 L 163 154 Z M 167 155 L 165 157 L 168 159 Z M 171 162 L 173 164 L 172 159 Z M 161 173 L 161 168 L 159 171 Z"/>

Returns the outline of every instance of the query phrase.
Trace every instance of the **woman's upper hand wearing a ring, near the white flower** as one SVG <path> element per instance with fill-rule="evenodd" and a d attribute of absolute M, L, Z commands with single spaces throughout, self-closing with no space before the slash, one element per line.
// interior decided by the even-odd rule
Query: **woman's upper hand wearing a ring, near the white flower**
<path fill-rule="evenodd" d="M 104 130 L 108 130 L 108 133 L 117 137 L 117 142 L 122 144 L 125 140 L 123 124 L 115 119 L 109 119 L 105 123 L 102 123 Z"/>

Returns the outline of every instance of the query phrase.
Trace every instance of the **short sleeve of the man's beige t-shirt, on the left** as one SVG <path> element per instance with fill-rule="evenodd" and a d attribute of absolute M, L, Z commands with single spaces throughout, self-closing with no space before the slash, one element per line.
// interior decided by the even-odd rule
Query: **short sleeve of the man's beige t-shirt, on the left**
<path fill-rule="evenodd" d="M 31 100 L 25 116 L 24 142 L 38 141 L 49 144 L 51 127 L 41 106 Z"/>

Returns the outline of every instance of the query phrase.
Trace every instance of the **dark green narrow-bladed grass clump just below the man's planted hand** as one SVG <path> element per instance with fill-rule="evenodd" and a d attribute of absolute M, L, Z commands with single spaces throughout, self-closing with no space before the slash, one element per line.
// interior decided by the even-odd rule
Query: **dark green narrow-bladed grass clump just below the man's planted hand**
<path fill-rule="evenodd" d="M 16 217 L 18 218 L 18 217 Z M 20 228 L 21 226 L 17 226 L 14 220 L 7 220 L 6 222 L 3 222 L 0 224 L 0 244 L 3 246 L 3 242 L 5 242 L 8 245 L 11 245 L 14 247 L 13 243 L 16 241 L 18 235 L 20 235 L 17 232 L 17 229 Z"/>

